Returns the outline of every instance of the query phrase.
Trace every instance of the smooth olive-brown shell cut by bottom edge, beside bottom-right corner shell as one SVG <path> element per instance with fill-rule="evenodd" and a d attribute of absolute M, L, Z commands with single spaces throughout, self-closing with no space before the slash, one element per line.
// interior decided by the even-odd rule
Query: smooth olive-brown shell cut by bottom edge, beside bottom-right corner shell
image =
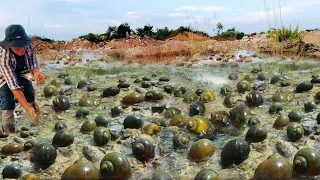
<path fill-rule="evenodd" d="M 269 158 L 259 164 L 254 179 L 291 179 L 292 165 L 283 157 Z"/>

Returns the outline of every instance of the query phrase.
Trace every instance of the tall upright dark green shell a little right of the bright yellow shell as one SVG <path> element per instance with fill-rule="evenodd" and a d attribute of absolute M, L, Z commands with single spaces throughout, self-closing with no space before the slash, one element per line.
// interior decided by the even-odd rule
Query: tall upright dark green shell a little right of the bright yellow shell
<path fill-rule="evenodd" d="M 231 123 L 236 128 L 243 128 L 248 123 L 247 107 L 244 103 L 237 104 L 230 110 Z"/>

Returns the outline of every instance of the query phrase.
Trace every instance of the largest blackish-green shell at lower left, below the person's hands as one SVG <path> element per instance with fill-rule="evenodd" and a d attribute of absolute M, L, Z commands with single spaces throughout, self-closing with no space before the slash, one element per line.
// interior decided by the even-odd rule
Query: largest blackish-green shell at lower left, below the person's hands
<path fill-rule="evenodd" d="M 57 150 L 51 144 L 39 144 L 29 150 L 30 161 L 41 165 L 52 165 L 57 158 Z"/>

